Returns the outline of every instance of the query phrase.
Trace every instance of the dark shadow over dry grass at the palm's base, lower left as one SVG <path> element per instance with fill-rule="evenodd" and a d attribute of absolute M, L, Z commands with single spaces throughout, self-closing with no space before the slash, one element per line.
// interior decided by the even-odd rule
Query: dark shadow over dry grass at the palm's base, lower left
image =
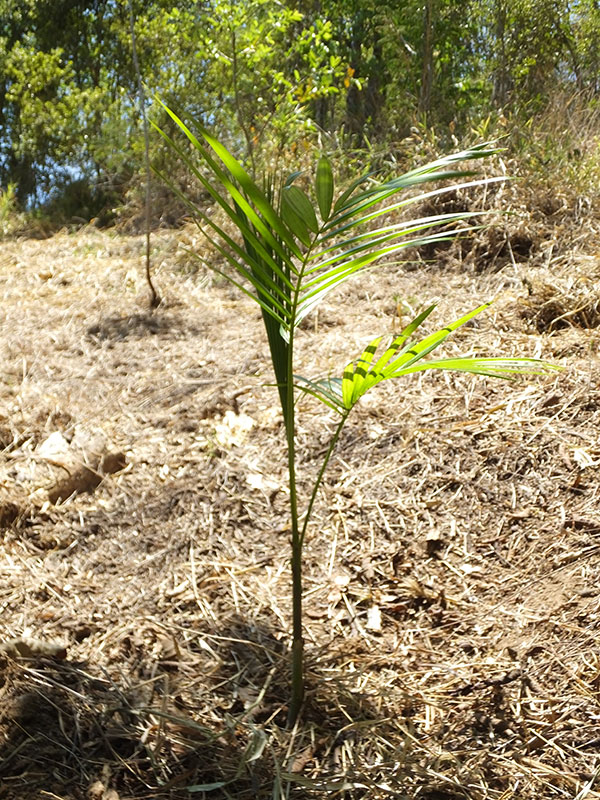
<path fill-rule="evenodd" d="M 167 650 L 162 661 L 138 662 L 135 675 L 125 668 L 119 680 L 88 663 L 3 658 L 0 798 L 189 798 L 191 788 L 199 797 L 244 800 L 283 797 L 286 786 L 289 797 L 343 791 L 344 752 L 357 725 L 377 721 L 368 699 L 331 681 L 318 688 L 309 663 L 301 729 L 290 731 L 288 659 L 277 630 L 234 620 L 204 646 L 219 663 L 210 676 L 182 674 Z M 314 761 L 327 763 L 331 780 L 302 777 Z"/>

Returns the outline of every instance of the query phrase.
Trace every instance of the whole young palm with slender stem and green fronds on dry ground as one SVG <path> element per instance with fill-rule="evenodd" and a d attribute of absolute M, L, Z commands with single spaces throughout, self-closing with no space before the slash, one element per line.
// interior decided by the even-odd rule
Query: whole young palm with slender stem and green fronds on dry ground
<path fill-rule="evenodd" d="M 382 345 L 382 337 L 374 339 L 358 360 L 345 368 L 341 377 L 310 380 L 295 374 L 298 325 L 332 290 L 403 248 L 448 239 L 458 229 L 474 227 L 473 212 L 389 220 L 393 212 L 408 204 L 482 183 L 471 180 L 473 173 L 460 170 L 457 165 L 497 152 L 492 145 L 463 150 L 382 183 L 377 183 L 372 175 L 364 175 L 337 198 L 330 162 L 322 157 L 316 169 L 316 202 L 313 202 L 295 182 L 300 173 L 290 175 L 278 187 L 272 181 L 259 187 L 208 131 L 199 127 L 196 136 L 176 114 L 164 108 L 192 147 L 184 147 L 159 128 L 157 130 L 233 223 L 239 237 L 230 235 L 215 221 L 216 217 L 208 216 L 202 207 L 190 203 L 168 178 L 161 177 L 191 208 L 203 234 L 221 256 L 223 266 L 208 263 L 199 254 L 198 257 L 260 306 L 269 342 L 287 444 L 292 574 L 292 687 L 288 723 L 294 724 L 304 697 L 302 547 L 325 469 L 357 402 L 382 381 L 426 369 L 510 378 L 519 373 L 540 374 L 554 367 L 532 358 L 425 360 L 447 336 L 486 309 L 489 303 L 485 303 L 441 330 L 418 338 L 415 336 L 417 329 L 434 310 L 434 306 L 429 306 L 387 345 Z M 459 182 L 397 199 L 402 190 L 442 179 L 458 179 Z M 386 204 L 384 201 L 388 199 L 391 202 Z M 453 228 L 451 232 L 449 225 Z M 296 488 L 295 416 L 299 392 L 312 395 L 338 415 L 337 426 L 303 513 Z"/>

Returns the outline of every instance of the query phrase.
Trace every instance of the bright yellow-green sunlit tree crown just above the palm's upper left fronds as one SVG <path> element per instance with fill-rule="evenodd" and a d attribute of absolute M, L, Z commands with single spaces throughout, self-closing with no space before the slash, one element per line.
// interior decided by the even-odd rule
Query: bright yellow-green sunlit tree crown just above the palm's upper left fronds
<path fill-rule="evenodd" d="M 274 0 L 212 0 L 201 41 L 206 79 L 219 94 L 203 122 L 231 131 L 238 150 L 241 133 L 253 169 L 257 151 L 264 161 L 314 132 L 310 104 L 336 94 L 347 72 L 329 21 L 307 21 Z"/>

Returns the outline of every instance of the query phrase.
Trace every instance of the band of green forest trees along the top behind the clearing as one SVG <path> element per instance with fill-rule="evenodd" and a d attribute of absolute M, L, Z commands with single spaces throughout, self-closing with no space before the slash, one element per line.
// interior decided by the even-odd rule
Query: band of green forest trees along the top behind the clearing
<path fill-rule="evenodd" d="M 158 95 L 251 169 L 324 137 L 461 138 L 557 86 L 599 91 L 597 0 L 134 0 L 134 14 L 149 113 L 168 127 Z M 122 201 L 143 162 L 128 0 L 0 0 L 0 18 L 0 185 L 22 205 L 73 183 Z M 171 158 L 156 137 L 154 162 Z"/>

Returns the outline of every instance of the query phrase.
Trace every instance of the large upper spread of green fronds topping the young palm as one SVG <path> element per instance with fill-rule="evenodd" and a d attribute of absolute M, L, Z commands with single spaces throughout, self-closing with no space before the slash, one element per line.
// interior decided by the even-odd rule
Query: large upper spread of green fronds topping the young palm
<path fill-rule="evenodd" d="M 331 291 L 363 269 L 372 268 L 382 258 L 407 247 L 444 241 L 461 230 L 473 230 L 474 219 L 481 212 L 433 214 L 416 220 L 374 224 L 381 217 L 447 191 L 503 180 L 464 180 L 473 173 L 460 169 L 461 163 L 497 152 L 492 144 L 485 143 L 382 183 L 375 182 L 372 174 L 362 175 L 335 200 L 331 164 L 321 157 L 313 186 L 316 202 L 295 183 L 300 175 L 297 172 L 282 185 L 277 201 L 277 196 L 261 189 L 209 131 L 197 126 L 196 135 L 177 114 L 161 105 L 204 162 L 207 174 L 193 163 L 188 152 L 157 130 L 237 228 L 243 243 L 237 242 L 201 208 L 192 206 L 195 219 L 216 251 L 237 273 L 233 282 L 249 284 L 247 294 L 256 299 L 263 314 L 271 314 L 281 328 L 278 335 L 284 338 Z M 402 190 L 447 178 L 460 178 L 463 182 L 411 194 L 386 207 L 385 201 Z M 167 177 L 163 179 L 173 186 Z M 176 187 L 173 189 L 186 200 Z M 224 195 L 229 196 L 229 201 Z M 455 227 L 449 230 L 449 226 Z"/>

